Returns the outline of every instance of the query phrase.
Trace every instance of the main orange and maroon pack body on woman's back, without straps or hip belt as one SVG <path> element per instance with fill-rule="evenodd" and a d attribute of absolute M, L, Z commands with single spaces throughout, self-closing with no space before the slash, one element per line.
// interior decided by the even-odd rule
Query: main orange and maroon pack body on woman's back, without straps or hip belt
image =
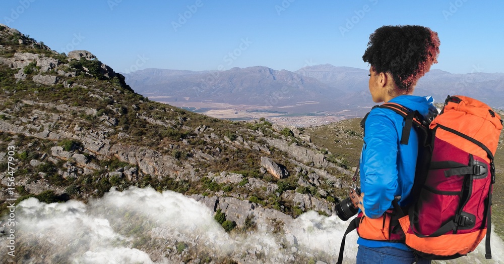
<path fill-rule="evenodd" d="M 448 96 L 430 123 L 432 156 L 420 195 L 399 220 L 406 245 L 430 259 L 452 259 L 473 251 L 486 235 L 491 258 L 491 197 L 494 154 L 502 120 L 485 103 Z M 425 179 L 422 179 L 425 178 Z"/>

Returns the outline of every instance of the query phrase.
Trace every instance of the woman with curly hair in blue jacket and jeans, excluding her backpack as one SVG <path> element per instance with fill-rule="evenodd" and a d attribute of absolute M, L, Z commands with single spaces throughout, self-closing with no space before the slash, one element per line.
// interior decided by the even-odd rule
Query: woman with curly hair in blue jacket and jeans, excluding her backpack
<path fill-rule="evenodd" d="M 362 59 L 370 64 L 369 92 L 374 102 L 394 102 L 427 117 L 433 99 L 411 95 L 420 77 L 437 63 L 437 33 L 422 26 L 383 26 L 369 37 Z M 394 197 L 400 206 L 411 201 L 418 136 L 412 129 L 409 144 L 400 144 L 404 119 L 392 110 L 375 108 L 365 121 L 360 159 L 361 197 L 365 217 L 381 218 Z M 359 237 L 357 263 L 430 263 L 401 242 Z M 387 262 L 385 262 L 387 261 Z"/>

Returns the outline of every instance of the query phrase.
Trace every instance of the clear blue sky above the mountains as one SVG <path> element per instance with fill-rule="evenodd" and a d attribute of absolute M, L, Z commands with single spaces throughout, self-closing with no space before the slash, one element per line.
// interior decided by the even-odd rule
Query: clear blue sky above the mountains
<path fill-rule="evenodd" d="M 504 72 L 503 8 L 497 0 L 4 0 L 0 23 L 59 52 L 89 50 L 118 72 L 367 69 L 370 33 L 416 24 L 439 34 L 433 69 L 471 73 Z"/>

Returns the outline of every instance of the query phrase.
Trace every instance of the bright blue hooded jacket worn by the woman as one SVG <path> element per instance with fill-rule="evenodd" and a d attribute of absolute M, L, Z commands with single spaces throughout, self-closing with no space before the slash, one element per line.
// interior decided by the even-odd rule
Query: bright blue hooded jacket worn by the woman
<path fill-rule="evenodd" d="M 400 95 L 389 102 L 403 105 L 427 117 L 436 111 L 432 97 Z M 418 135 L 412 128 L 407 145 L 400 144 L 404 126 L 402 116 L 389 109 L 375 108 L 367 116 L 364 144 L 360 156 L 360 188 L 364 195 L 364 209 L 369 218 L 379 218 L 392 208 L 392 200 L 401 195 L 399 205 L 407 205 L 415 177 Z M 409 250 L 405 244 L 372 241 L 360 238 L 359 245 L 367 247 L 392 246 Z"/>

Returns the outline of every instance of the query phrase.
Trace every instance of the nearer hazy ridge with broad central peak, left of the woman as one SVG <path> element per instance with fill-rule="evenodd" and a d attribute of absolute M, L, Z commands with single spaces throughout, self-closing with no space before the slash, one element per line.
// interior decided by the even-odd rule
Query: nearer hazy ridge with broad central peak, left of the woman
<path fill-rule="evenodd" d="M 157 75 L 159 72 L 163 74 Z M 125 76 L 137 92 L 167 96 L 163 100 L 168 102 L 226 102 L 277 109 L 296 102 L 334 102 L 344 94 L 317 79 L 262 66 L 213 72 L 145 69 Z"/>

